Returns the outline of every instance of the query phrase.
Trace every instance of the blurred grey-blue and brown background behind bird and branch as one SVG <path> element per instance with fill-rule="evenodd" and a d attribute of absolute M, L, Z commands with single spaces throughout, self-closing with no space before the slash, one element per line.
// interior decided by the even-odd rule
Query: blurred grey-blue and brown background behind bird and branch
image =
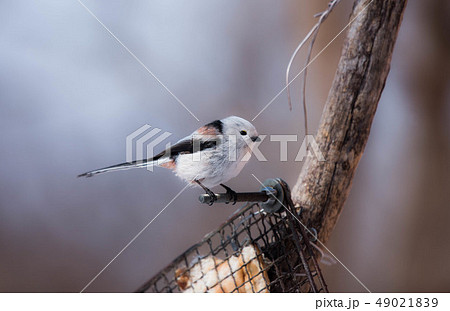
<path fill-rule="evenodd" d="M 283 87 L 292 51 L 328 1 L 83 1 L 200 119 L 197 122 L 75 0 L 0 1 L 0 291 L 80 291 L 184 187 L 156 169 L 77 179 L 125 160 L 144 124 L 174 133 L 229 115 L 253 118 Z M 313 55 L 347 23 L 343 0 Z M 372 291 L 450 290 L 449 2 L 410 0 L 353 189 L 328 247 Z M 310 66 L 315 133 L 343 36 Z M 294 64 L 296 74 L 304 53 Z M 254 122 L 304 135 L 281 94 Z M 289 144 L 265 141 L 228 184 L 259 189 L 301 169 Z M 135 290 L 224 222 L 235 207 L 201 206 L 189 188 L 87 289 Z M 339 264 L 331 291 L 364 291 Z"/>

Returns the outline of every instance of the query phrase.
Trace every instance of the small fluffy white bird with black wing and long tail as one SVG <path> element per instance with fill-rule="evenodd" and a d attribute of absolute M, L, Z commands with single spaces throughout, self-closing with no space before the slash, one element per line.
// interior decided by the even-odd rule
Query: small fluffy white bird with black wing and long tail
<path fill-rule="evenodd" d="M 221 185 L 233 198 L 236 193 L 223 183 L 236 177 L 247 163 L 242 161 L 261 139 L 247 120 L 231 116 L 200 127 L 191 135 L 150 159 L 126 162 L 86 172 L 78 177 L 127 170 L 136 167 L 161 166 L 171 169 L 181 179 L 197 183 L 215 199 L 209 189 Z"/>

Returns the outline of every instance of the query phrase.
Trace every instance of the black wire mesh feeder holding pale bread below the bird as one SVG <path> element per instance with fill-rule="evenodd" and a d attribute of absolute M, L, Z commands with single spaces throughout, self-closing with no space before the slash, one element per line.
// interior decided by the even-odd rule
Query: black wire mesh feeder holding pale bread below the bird
<path fill-rule="evenodd" d="M 244 205 L 137 292 L 327 292 L 311 236 L 282 185 L 284 210 Z"/>

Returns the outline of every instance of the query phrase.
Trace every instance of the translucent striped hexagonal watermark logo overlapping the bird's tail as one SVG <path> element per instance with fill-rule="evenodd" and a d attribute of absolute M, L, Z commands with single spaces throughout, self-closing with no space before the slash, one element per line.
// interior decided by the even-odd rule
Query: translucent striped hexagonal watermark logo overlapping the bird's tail
<path fill-rule="evenodd" d="M 152 128 L 145 124 L 128 135 L 126 138 L 126 161 L 133 162 L 135 159 L 137 162 L 144 163 L 144 160 L 153 158 L 155 156 L 154 148 L 172 135 L 170 132 L 161 133 L 161 131 L 160 128 Z M 167 148 L 170 148 L 170 143 L 164 149 Z M 146 168 L 153 171 L 153 165 L 147 165 Z"/>

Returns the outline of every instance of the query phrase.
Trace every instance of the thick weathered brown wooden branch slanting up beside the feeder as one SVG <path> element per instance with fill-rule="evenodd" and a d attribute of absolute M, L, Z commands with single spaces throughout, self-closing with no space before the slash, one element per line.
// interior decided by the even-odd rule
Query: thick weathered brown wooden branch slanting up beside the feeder
<path fill-rule="evenodd" d="M 389 73 L 407 0 L 357 0 L 316 141 L 325 157 L 308 157 L 293 188 L 308 226 L 326 242 L 347 199 Z"/>

